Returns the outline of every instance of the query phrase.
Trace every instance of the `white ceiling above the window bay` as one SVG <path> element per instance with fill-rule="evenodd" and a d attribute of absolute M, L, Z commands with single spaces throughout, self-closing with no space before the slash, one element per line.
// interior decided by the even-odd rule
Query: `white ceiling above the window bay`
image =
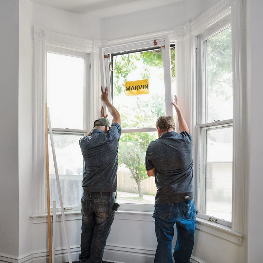
<path fill-rule="evenodd" d="M 30 0 L 99 19 L 184 2 L 185 0 Z"/>

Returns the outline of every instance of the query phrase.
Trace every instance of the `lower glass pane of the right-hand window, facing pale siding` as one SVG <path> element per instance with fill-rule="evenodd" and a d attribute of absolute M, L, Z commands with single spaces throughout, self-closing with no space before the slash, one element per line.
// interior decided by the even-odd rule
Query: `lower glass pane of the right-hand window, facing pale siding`
<path fill-rule="evenodd" d="M 205 214 L 231 221 L 232 126 L 206 129 Z"/>

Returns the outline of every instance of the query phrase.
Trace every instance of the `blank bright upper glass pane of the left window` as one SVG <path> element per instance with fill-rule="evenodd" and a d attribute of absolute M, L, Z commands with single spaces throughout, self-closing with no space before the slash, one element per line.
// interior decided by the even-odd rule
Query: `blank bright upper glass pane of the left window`
<path fill-rule="evenodd" d="M 47 106 L 53 128 L 83 129 L 84 59 L 47 53 Z"/>

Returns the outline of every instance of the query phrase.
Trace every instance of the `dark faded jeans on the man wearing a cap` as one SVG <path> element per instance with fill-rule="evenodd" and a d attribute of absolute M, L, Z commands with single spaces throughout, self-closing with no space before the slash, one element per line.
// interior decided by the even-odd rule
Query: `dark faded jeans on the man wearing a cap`
<path fill-rule="evenodd" d="M 114 203 L 114 195 L 100 197 L 83 193 L 80 263 L 102 262 L 104 247 L 114 220 Z"/>

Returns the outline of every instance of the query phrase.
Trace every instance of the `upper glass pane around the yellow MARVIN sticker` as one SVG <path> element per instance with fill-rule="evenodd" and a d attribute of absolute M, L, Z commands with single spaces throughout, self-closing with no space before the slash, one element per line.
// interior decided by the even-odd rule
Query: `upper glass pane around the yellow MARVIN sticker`
<path fill-rule="evenodd" d="M 154 127 L 165 114 L 163 51 L 161 49 L 112 56 L 113 105 L 122 127 Z M 149 94 L 125 95 L 125 81 L 149 79 Z"/>

